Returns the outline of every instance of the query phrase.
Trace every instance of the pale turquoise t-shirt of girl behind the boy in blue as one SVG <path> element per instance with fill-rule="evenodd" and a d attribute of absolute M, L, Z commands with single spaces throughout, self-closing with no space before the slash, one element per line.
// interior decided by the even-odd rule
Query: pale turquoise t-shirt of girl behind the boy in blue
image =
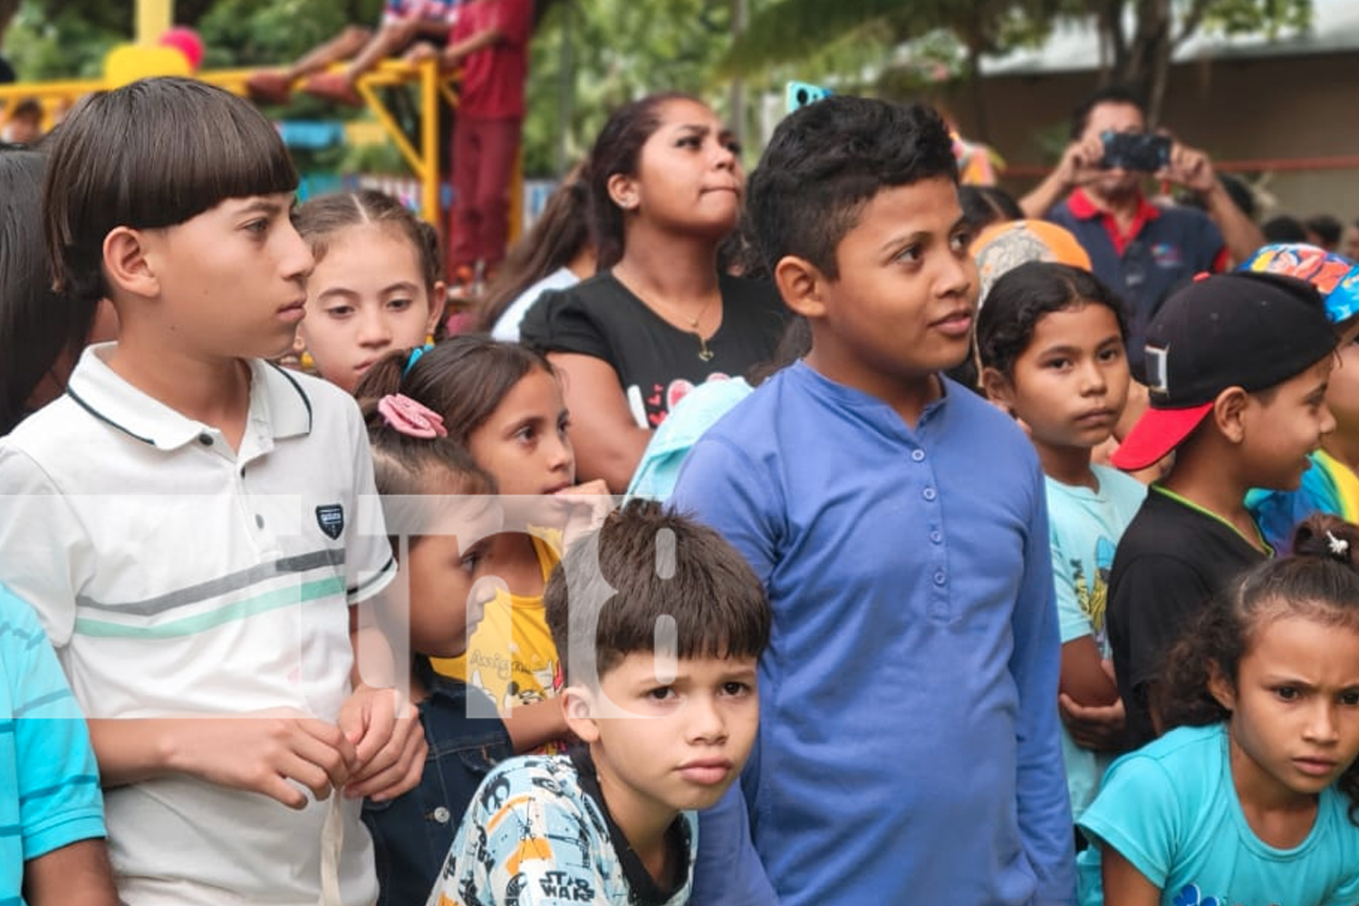
<path fill-rule="evenodd" d="M 1098 490 L 1046 479 L 1052 577 L 1057 587 L 1057 629 L 1063 644 L 1094 636 L 1099 653 L 1108 657 L 1104 615 L 1113 551 L 1123 530 L 1137 515 L 1147 488 L 1116 469 L 1091 469 L 1099 482 Z M 1076 746 L 1065 727 L 1061 728 L 1061 755 L 1067 765 L 1071 814 L 1079 819 L 1099 791 L 1108 757 Z"/>

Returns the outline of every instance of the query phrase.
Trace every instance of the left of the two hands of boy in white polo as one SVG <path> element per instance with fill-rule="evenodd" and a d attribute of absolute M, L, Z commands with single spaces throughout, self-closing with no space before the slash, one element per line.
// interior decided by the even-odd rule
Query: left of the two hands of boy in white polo
<path fill-rule="evenodd" d="M 349 782 L 359 757 L 338 727 L 296 712 L 258 717 L 186 719 L 175 736 L 175 761 L 217 786 L 245 789 L 304 808 Z M 292 781 L 292 782 L 289 782 Z"/>

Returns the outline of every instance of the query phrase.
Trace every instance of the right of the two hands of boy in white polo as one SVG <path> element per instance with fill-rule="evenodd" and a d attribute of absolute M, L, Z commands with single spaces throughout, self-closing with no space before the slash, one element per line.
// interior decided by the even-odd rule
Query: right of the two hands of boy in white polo
<path fill-rule="evenodd" d="M 340 728 L 357 754 L 345 796 L 394 799 L 420 782 L 428 744 L 410 702 L 397 716 L 397 690 L 360 685 L 340 709 Z"/>

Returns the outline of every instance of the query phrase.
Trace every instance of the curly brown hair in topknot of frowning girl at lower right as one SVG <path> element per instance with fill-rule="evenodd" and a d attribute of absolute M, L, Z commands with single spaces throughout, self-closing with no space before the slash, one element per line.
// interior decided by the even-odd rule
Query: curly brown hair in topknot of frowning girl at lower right
<path fill-rule="evenodd" d="M 1302 617 L 1359 632 L 1359 527 L 1326 513 L 1309 516 L 1294 532 L 1292 551 L 1248 572 L 1184 629 L 1166 655 L 1158 701 L 1167 728 L 1231 716 L 1208 682 L 1220 675 L 1235 686 L 1241 660 L 1264 625 Z M 1349 820 L 1359 825 L 1359 762 L 1336 785 L 1349 797 Z"/>

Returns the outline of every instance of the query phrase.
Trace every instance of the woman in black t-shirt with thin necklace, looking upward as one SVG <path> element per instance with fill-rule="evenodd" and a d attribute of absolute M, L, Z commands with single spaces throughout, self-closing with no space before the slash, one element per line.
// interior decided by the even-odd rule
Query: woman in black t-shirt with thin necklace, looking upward
<path fill-rule="evenodd" d="M 771 357 L 787 318 L 777 291 L 719 273 L 745 194 L 739 148 L 703 102 L 636 101 L 590 156 L 599 273 L 545 293 L 520 326 L 564 375 L 582 481 L 621 493 L 670 407 L 696 384 Z"/>

